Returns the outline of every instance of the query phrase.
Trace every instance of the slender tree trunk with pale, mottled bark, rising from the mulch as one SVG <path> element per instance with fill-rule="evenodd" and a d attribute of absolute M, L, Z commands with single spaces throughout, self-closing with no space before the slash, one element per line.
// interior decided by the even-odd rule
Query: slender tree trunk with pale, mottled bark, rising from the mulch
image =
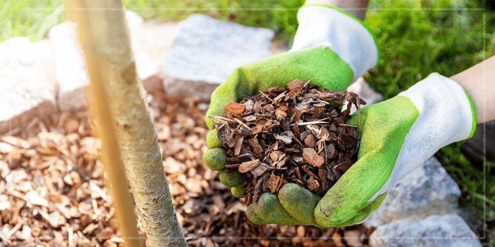
<path fill-rule="evenodd" d="M 79 39 L 91 83 L 102 82 L 104 94 L 94 95 L 100 98 L 93 100 L 108 101 L 109 115 L 97 127 L 101 132 L 115 130 L 125 175 L 147 238 L 152 246 L 187 246 L 172 204 L 146 93 L 137 75 L 122 0 L 67 1 L 76 7 Z M 103 129 L 105 126 L 111 129 Z"/>

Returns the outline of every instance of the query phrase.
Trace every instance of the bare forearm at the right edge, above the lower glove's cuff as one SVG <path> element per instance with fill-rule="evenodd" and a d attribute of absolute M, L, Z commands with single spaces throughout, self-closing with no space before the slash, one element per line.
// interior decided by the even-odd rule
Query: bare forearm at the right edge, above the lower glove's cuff
<path fill-rule="evenodd" d="M 495 119 L 495 56 L 450 77 L 468 92 L 476 110 L 476 122 Z"/>

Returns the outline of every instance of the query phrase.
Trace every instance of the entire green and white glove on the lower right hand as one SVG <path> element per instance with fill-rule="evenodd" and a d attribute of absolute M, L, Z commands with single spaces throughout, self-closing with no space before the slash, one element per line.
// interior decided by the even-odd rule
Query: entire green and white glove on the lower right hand
<path fill-rule="evenodd" d="M 357 126 L 357 121 L 355 112 L 348 123 Z M 359 223 L 380 206 L 393 183 L 441 147 L 470 138 L 476 114 L 457 82 L 433 73 L 398 96 L 362 108 L 360 123 L 358 161 L 323 198 L 296 184 L 285 184 L 278 194 L 279 204 L 274 203 L 276 196 L 265 193 L 250 205 L 250 220 L 292 224 L 286 220 L 292 216 L 296 222 L 323 227 Z M 288 216 L 274 218 L 272 211 Z"/>

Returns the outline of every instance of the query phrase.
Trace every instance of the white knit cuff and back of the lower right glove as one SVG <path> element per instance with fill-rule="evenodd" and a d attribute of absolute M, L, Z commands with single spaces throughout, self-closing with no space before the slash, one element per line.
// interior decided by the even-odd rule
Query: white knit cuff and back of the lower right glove
<path fill-rule="evenodd" d="M 406 135 L 390 177 L 368 202 L 388 191 L 440 148 L 471 137 L 476 128 L 474 106 L 466 91 L 447 77 L 432 73 L 399 95 L 411 99 L 419 116 Z"/>

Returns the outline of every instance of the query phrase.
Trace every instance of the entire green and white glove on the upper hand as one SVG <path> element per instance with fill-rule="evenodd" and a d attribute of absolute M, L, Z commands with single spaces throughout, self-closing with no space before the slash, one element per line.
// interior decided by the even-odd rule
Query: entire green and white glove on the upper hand
<path fill-rule="evenodd" d="M 360 20 L 332 6 L 303 6 L 298 14 L 299 28 L 292 49 L 254 63 L 240 66 L 212 94 L 209 115 L 222 115 L 230 101 L 258 94 L 270 87 L 284 87 L 302 79 L 321 88 L 342 90 L 378 60 L 376 38 Z M 213 130 L 207 137 L 205 164 L 213 170 L 225 168 L 226 154 Z M 243 197 L 240 173 L 220 173 L 220 180 L 232 187 L 232 194 Z M 314 208 L 314 207 L 313 207 Z M 276 218 L 276 217 L 275 217 Z"/>

